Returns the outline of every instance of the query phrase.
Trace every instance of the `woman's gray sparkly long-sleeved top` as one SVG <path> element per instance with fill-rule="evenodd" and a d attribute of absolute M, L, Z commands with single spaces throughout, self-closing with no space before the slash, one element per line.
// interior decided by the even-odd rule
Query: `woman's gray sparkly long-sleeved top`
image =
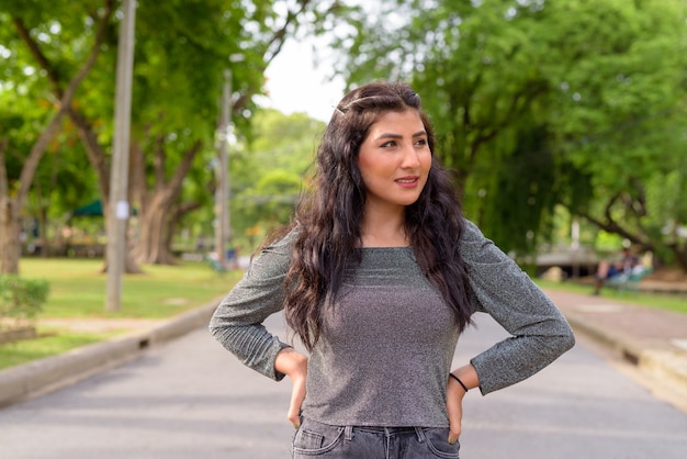
<path fill-rule="evenodd" d="M 210 328 L 246 366 L 280 380 L 289 346 L 262 322 L 282 310 L 295 234 L 267 247 L 218 305 Z M 513 336 L 472 358 L 487 394 L 541 370 L 574 345 L 549 298 L 480 229 L 461 239 L 474 311 Z M 303 414 L 334 425 L 446 427 L 446 385 L 458 342 L 453 313 L 410 247 L 363 248 L 349 266 L 308 360 Z"/>

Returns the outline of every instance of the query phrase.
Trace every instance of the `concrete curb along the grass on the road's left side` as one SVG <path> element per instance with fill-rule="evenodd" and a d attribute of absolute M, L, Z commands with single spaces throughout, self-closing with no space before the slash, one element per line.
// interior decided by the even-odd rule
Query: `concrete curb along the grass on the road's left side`
<path fill-rule="evenodd" d="M 218 300 L 161 325 L 0 370 L 0 407 L 43 395 L 138 358 L 146 349 L 207 325 Z"/>

